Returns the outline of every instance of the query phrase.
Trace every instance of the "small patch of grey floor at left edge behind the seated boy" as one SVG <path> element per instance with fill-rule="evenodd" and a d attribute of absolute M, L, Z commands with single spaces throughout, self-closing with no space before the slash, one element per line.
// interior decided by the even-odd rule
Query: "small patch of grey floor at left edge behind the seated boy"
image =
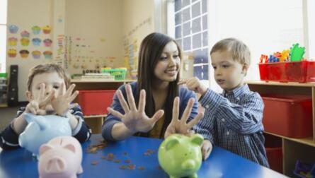
<path fill-rule="evenodd" d="M 19 107 L 0 107 L 0 131 L 16 117 Z"/>

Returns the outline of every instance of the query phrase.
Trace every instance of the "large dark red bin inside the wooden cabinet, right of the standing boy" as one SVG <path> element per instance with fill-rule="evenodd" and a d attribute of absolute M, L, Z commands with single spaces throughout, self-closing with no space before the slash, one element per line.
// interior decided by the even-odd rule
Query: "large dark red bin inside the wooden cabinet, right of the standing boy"
<path fill-rule="evenodd" d="M 262 95 L 265 131 L 291 138 L 312 136 L 311 97 L 305 95 Z"/>

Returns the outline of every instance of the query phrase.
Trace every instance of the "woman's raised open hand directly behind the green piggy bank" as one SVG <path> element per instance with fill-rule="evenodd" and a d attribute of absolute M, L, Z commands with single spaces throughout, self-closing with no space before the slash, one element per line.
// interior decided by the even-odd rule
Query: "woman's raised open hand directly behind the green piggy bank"
<path fill-rule="evenodd" d="M 203 117 L 203 112 L 199 112 L 197 116 L 191 120 L 188 124 L 186 124 L 187 119 L 190 116 L 191 109 L 193 108 L 194 99 L 190 98 L 188 100 L 188 104 L 185 108 L 185 111 L 183 112 L 183 115 L 181 117 L 181 120 L 178 119 L 179 115 L 179 97 L 176 97 L 174 99 L 173 103 L 173 118 L 171 120 L 171 123 L 168 125 L 164 138 L 167 138 L 168 136 L 171 136 L 173 133 L 179 133 L 183 135 L 190 135 L 191 131 L 190 129 L 193 128 L 195 124 L 197 124 L 200 119 Z M 198 109 L 200 110 L 200 109 Z"/>

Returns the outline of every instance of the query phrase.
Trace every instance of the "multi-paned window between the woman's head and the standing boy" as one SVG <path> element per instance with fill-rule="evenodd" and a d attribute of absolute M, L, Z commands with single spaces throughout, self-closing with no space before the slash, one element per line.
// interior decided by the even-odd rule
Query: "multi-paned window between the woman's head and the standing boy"
<path fill-rule="evenodd" d="M 171 5 L 170 5 L 171 4 Z M 169 10 L 171 9 L 171 11 Z M 208 79 L 207 0 L 175 0 L 168 3 L 168 16 L 174 19 L 171 36 L 184 52 L 193 52 L 194 76 Z M 168 26 L 168 29 L 170 27 Z"/>

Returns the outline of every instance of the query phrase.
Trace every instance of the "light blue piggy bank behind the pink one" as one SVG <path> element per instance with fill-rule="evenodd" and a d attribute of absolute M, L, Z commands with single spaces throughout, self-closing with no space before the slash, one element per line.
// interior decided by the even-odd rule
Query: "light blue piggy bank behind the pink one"
<path fill-rule="evenodd" d="M 57 136 L 71 136 L 71 127 L 67 117 L 25 113 L 24 118 L 28 126 L 18 137 L 18 143 L 37 158 L 42 144 Z"/>

